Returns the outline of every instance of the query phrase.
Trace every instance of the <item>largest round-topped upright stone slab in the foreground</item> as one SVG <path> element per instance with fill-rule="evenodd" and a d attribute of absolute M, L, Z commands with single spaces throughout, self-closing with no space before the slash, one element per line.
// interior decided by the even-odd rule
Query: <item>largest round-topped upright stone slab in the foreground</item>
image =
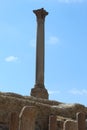
<path fill-rule="evenodd" d="M 25 106 L 19 115 L 19 130 L 35 130 L 36 109 Z"/>

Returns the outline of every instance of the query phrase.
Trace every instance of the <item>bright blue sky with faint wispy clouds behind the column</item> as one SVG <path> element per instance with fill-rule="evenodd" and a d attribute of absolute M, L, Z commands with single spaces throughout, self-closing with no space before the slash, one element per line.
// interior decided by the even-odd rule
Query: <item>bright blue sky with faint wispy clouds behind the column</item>
<path fill-rule="evenodd" d="M 44 8 L 49 99 L 87 106 L 87 0 L 0 0 L 0 91 L 30 95 L 36 16 Z"/>

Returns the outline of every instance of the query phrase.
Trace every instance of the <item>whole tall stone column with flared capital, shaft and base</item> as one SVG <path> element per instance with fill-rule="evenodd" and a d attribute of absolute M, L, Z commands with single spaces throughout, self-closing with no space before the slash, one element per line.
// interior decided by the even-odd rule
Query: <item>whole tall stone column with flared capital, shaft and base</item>
<path fill-rule="evenodd" d="M 48 15 L 43 8 L 33 11 L 37 18 L 37 39 L 36 39 L 36 81 L 31 89 L 31 96 L 48 99 L 48 92 L 44 86 L 44 22 Z"/>

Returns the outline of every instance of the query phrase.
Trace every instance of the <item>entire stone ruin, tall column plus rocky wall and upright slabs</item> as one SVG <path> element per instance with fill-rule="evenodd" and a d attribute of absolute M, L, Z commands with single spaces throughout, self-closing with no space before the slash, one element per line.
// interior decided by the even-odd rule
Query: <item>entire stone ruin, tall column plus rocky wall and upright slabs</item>
<path fill-rule="evenodd" d="M 0 130 L 87 130 L 87 107 L 49 100 L 44 85 L 43 8 L 34 10 L 37 19 L 36 79 L 30 96 L 0 92 Z"/>

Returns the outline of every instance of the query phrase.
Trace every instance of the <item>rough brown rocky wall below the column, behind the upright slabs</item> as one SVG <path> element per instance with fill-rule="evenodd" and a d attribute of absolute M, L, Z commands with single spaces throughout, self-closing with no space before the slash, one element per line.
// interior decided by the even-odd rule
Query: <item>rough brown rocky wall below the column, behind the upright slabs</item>
<path fill-rule="evenodd" d="M 24 106 L 35 106 L 37 111 L 36 125 L 41 130 L 48 130 L 49 116 L 60 115 L 75 118 L 77 112 L 87 112 L 85 106 L 80 104 L 64 104 L 57 101 L 26 97 L 13 93 L 0 93 L 0 122 L 9 124 L 11 113 L 20 114 Z"/>

